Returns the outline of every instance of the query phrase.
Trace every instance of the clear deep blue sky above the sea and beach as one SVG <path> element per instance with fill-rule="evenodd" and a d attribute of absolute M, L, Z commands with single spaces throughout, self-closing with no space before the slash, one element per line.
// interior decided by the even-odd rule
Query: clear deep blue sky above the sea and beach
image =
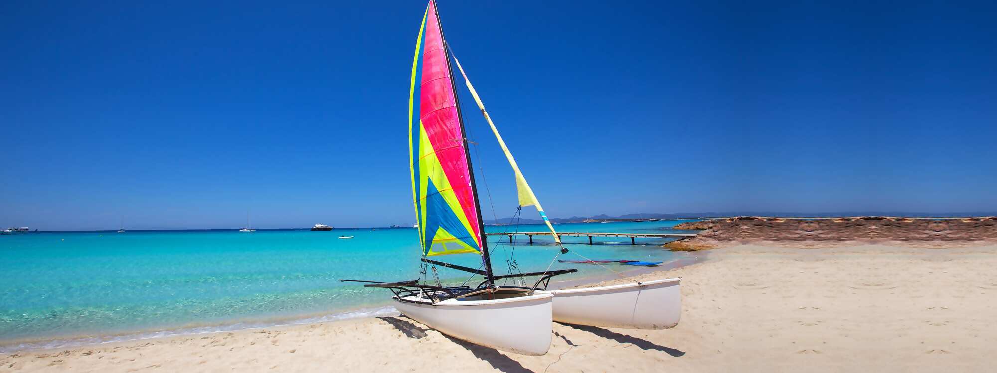
<path fill-rule="evenodd" d="M 425 5 L 3 2 L 0 225 L 411 225 Z M 552 217 L 997 210 L 992 2 L 440 9 Z M 511 171 L 465 97 L 508 217 Z"/>

